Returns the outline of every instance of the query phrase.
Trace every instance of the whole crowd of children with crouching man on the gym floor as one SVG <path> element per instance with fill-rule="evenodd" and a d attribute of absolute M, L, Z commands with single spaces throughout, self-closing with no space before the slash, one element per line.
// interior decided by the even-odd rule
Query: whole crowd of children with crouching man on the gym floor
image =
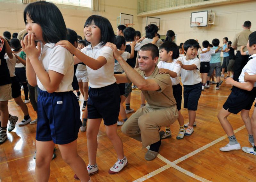
<path fill-rule="evenodd" d="M 232 84 L 233 88 L 218 119 L 228 135 L 229 143 L 220 150 L 241 149 L 227 120 L 230 113 L 241 111 L 253 147 L 243 147 L 242 150 L 256 155 L 255 109 L 252 118 L 249 117 L 256 97 L 256 32 L 250 33 L 247 45 L 239 47 L 239 54 L 251 55 L 252 59 L 247 60 L 240 73 L 234 73 L 234 42 L 228 41 L 227 37 L 223 38 L 222 47 L 219 39 L 213 39 L 212 44 L 204 40 L 202 48 L 194 39 L 177 46 L 173 42 L 175 33 L 172 30 L 168 30 L 165 40 L 161 40 L 157 35 L 158 27 L 154 24 L 145 27 L 144 37 L 132 27 L 119 25 L 116 36 L 107 18 L 92 15 L 85 21 L 85 40 L 82 40 L 75 31 L 66 28 L 60 10 L 48 2 L 28 4 L 24 10 L 24 22 L 26 31 L 22 32 L 21 44 L 14 37 L 16 34 L 12 35 L 12 39 L 8 32 L 4 33 L 4 37 L 0 36 L 0 144 L 7 138 L 8 120 L 9 132 L 18 121 L 17 116 L 8 112 L 8 100 L 13 98 L 24 113 L 24 119 L 18 125 L 37 123 L 36 179 L 49 179 L 50 162 L 56 157 L 54 145 L 58 144 L 62 158 L 75 172 L 74 178 L 91 181 L 89 175 L 99 171 L 96 162 L 97 135 L 102 119 L 117 155 L 109 174 L 120 172 L 128 164 L 117 126 L 124 125 L 123 133 L 131 137 L 141 135 L 142 146 L 150 145 L 145 159 L 153 160 L 158 154 L 161 139 L 172 135 L 170 125 L 176 119 L 180 125 L 176 139 L 192 135 L 201 92 L 214 83 L 214 77 L 215 90 L 219 90 L 226 69 L 226 83 Z M 250 29 L 251 23 L 246 21 L 244 27 Z M 245 49 L 248 50 L 244 52 Z M 233 73 L 240 75 L 238 80 L 232 79 Z M 189 120 L 186 124 L 180 112 L 180 77 L 183 108 L 188 110 Z M 33 121 L 21 99 L 21 85 L 25 103 L 30 99 L 37 113 L 37 119 Z M 141 90 L 141 108 L 128 118 L 126 114 L 134 112 L 130 107 L 133 89 Z M 158 95 L 158 92 L 162 95 Z M 84 110 L 82 122 L 78 103 L 81 94 L 81 109 Z M 171 110 L 167 111 L 166 108 Z M 156 119 L 153 123 L 146 117 L 152 111 L 157 111 L 156 115 L 163 120 Z M 119 113 L 122 120 L 118 119 Z M 137 123 L 136 126 L 134 123 Z M 165 126 L 165 131 L 158 133 L 161 126 Z M 87 167 L 76 150 L 79 128 L 81 132 L 86 131 Z M 153 132 L 152 135 L 149 135 L 150 132 Z"/>

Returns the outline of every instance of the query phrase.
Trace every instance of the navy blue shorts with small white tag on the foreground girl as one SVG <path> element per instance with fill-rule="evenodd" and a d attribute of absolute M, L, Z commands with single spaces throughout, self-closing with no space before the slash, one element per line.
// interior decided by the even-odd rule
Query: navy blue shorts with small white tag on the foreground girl
<path fill-rule="evenodd" d="M 36 140 L 67 144 L 77 139 L 80 107 L 73 91 L 48 93 L 39 88 Z"/>

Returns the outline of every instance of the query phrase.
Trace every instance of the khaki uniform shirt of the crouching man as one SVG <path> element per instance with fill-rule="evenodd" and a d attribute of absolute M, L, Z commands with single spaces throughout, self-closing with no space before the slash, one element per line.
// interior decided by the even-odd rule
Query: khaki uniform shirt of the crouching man
<path fill-rule="evenodd" d="M 140 69 L 135 70 L 143 78 L 145 78 L 143 71 Z M 129 80 L 128 77 L 127 79 Z M 153 79 L 160 87 L 158 91 L 141 90 L 145 96 L 145 99 L 147 100 L 147 107 L 154 109 L 164 109 L 166 107 L 172 107 L 176 105 L 176 101 L 172 92 L 172 81 L 169 74 L 158 74 L 158 67 L 156 66 L 152 75 L 148 76 L 147 79 Z"/>

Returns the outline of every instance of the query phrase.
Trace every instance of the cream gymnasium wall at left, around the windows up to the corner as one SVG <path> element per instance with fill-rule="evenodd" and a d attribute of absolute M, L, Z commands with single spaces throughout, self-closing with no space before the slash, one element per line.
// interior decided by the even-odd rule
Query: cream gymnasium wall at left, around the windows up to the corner
<path fill-rule="evenodd" d="M 101 0 L 100 11 L 91 11 L 89 8 L 56 4 L 60 9 L 66 26 L 77 32 L 83 37 L 83 29 L 85 20 L 93 15 L 101 15 L 110 21 L 116 32 L 117 17 L 120 13 L 133 15 L 133 28 L 142 30 L 142 17 L 137 17 L 137 0 Z M 22 4 L 21 0 L 0 0 L 0 35 L 8 30 L 9 32 L 19 32 L 25 28 L 23 20 L 23 10 L 26 4 Z"/>

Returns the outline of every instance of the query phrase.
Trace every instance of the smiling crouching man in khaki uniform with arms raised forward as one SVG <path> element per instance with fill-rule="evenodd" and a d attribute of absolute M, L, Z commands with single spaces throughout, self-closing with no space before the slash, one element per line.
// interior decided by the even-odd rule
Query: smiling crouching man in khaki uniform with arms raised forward
<path fill-rule="evenodd" d="M 178 118 L 170 76 L 158 73 L 156 64 L 159 51 L 154 44 L 145 44 L 140 48 L 138 69 L 133 69 L 123 60 L 114 44 L 107 43 L 106 46 L 112 48 L 115 59 L 124 70 L 123 74 L 115 75 L 116 82 L 132 82 L 142 91 L 147 100 L 146 106 L 138 109 L 124 122 L 122 132 L 139 139 L 142 142 L 142 148 L 150 145 L 145 159 L 153 160 L 161 145 L 159 129 L 162 126 L 168 127 Z"/>

